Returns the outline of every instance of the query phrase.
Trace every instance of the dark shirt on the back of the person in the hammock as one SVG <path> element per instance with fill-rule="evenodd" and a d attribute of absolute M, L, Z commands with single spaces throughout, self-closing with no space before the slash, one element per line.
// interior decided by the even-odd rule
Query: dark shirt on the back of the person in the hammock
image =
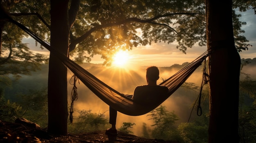
<path fill-rule="evenodd" d="M 162 96 L 167 96 L 168 91 L 166 86 L 137 86 L 134 90 L 132 99 L 135 102 L 155 102 L 157 100 L 162 100 Z"/>

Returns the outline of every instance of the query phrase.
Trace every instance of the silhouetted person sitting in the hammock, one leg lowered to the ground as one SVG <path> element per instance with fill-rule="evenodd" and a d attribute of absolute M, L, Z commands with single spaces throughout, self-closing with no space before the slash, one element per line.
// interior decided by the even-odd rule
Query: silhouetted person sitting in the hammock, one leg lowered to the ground
<path fill-rule="evenodd" d="M 146 81 L 147 85 L 137 86 L 134 90 L 133 95 L 127 95 L 132 98 L 135 102 L 148 102 L 154 101 L 159 96 L 166 95 L 168 88 L 166 86 L 157 85 L 159 79 L 159 70 L 156 66 L 150 66 L 146 68 Z M 116 129 L 117 121 L 117 110 L 109 107 L 109 123 L 112 125 L 111 128 L 106 130 L 106 134 L 117 135 Z"/>

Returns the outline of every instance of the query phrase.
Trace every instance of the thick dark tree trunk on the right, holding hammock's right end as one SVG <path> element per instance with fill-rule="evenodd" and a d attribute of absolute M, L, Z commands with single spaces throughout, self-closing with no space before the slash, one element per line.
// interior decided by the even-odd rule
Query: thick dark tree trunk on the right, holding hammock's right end
<path fill-rule="evenodd" d="M 238 143 L 240 56 L 235 48 L 232 0 L 206 0 L 209 56 L 209 143 Z"/>

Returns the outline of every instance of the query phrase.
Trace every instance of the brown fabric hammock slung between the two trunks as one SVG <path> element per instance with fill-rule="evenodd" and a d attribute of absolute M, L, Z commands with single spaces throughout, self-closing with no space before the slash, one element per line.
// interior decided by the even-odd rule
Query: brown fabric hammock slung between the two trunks
<path fill-rule="evenodd" d="M 189 65 L 178 71 L 175 75 L 159 84 L 161 86 L 168 87 L 168 95 L 166 95 L 165 97 L 157 97 L 157 99 L 161 99 L 155 103 L 151 103 L 150 105 L 145 105 L 144 103 L 137 103 L 133 101 L 132 99 L 126 97 L 125 95 L 111 88 L 107 84 L 103 83 L 101 80 L 97 79 L 97 77 L 95 77 L 87 70 L 69 59 L 66 55 L 60 53 L 56 48 L 41 40 L 35 33 L 27 29 L 27 27 L 10 18 L 9 15 L 6 15 L 6 18 L 16 24 L 27 34 L 33 37 L 36 41 L 42 44 L 45 48 L 47 48 L 56 57 L 58 57 L 61 62 L 63 62 L 63 64 L 65 64 L 65 66 L 67 66 L 67 68 L 69 68 L 83 82 L 83 84 L 85 84 L 85 86 L 92 90 L 92 92 L 97 95 L 102 101 L 107 103 L 115 110 L 130 116 L 139 116 L 142 114 L 146 114 L 151 110 L 157 108 L 168 97 L 170 97 L 173 92 L 175 92 L 175 90 L 177 90 L 186 81 L 186 79 L 189 78 L 189 76 L 195 71 L 195 69 L 198 68 L 198 66 L 200 66 L 204 59 L 206 59 L 206 57 L 208 57 L 209 55 L 208 51 L 204 52 Z"/>

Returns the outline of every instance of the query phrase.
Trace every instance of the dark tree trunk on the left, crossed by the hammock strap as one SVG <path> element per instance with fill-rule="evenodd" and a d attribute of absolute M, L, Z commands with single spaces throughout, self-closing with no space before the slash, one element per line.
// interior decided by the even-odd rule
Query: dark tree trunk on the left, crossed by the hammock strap
<path fill-rule="evenodd" d="M 51 46 L 68 53 L 68 0 L 51 0 Z M 50 54 L 48 75 L 48 132 L 67 135 L 67 68 Z"/>

